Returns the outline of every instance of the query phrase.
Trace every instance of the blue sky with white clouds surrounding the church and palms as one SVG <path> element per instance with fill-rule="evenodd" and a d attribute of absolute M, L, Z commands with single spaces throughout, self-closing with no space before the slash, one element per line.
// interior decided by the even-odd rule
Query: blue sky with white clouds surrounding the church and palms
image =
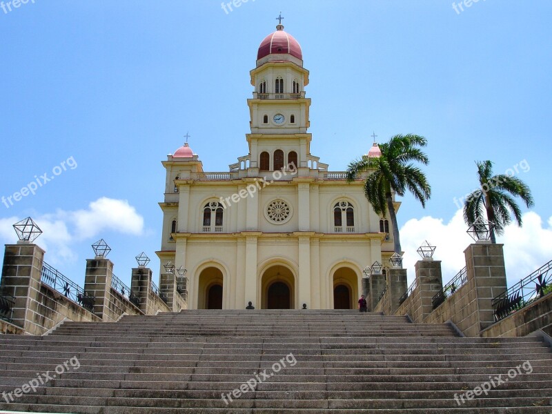
<path fill-rule="evenodd" d="M 157 281 L 161 160 L 187 131 L 205 170 L 226 171 L 246 155 L 249 70 L 280 10 L 311 71 L 313 155 L 344 170 L 373 131 L 380 141 L 428 139 L 433 197 L 423 209 L 406 196 L 399 213 L 408 266 L 431 238 L 444 279 L 460 270 L 470 239 L 453 198 L 475 188 L 482 159 L 497 173 L 517 165 L 535 197 L 524 227 L 500 239 L 509 282 L 552 259 L 544 0 L 480 0 L 460 13 L 448 0 L 249 0 L 231 12 L 219 0 L 0 8 L 0 196 L 59 172 L 34 195 L 0 204 L 0 242 L 14 242 L 11 224 L 30 215 L 45 230 L 37 243 L 46 262 L 75 282 L 100 238 L 120 279 L 130 283 L 145 251 Z"/>

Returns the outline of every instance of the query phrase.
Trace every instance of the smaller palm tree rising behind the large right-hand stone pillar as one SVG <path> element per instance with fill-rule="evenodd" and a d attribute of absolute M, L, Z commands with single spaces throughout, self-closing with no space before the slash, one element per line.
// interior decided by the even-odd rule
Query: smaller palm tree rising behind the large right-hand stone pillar
<path fill-rule="evenodd" d="M 464 221 L 472 226 L 483 217 L 486 210 L 491 226 L 491 243 L 496 243 L 495 233 L 502 235 L 504 227 L 512 222 L 511 213 L 518 226 L 522 226 L 522 212 L 513 197 L 520 197 L 527 208 L 533 206 L 529 187 L 519 178 L 510 175 L 493 175 L 493 163 L 476 161 L 480 188 L 473 191 L 464 201 Z"/>

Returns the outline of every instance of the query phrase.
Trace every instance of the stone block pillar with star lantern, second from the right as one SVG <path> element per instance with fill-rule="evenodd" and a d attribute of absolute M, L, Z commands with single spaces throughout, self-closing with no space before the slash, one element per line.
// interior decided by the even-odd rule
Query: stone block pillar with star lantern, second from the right
<path fill-rule="evenodd" d="M 433 312 L 433 297 L 443 288 L 441 273 L 441 261 L 431 258 L 419 260 L 414 265 L 416 271 L 416 304 L 413 315 L 410 315 L 413 322 L 424 322 L 427 315 Z"/>

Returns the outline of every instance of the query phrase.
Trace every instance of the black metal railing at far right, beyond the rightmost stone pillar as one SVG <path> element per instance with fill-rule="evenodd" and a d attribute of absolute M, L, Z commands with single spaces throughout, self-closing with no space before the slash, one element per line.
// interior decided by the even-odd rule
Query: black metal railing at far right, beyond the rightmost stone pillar
<path fill-rule="evenodd" d="M 493 299 L 495 321 L 552 292 L 552 260 Z"/>

